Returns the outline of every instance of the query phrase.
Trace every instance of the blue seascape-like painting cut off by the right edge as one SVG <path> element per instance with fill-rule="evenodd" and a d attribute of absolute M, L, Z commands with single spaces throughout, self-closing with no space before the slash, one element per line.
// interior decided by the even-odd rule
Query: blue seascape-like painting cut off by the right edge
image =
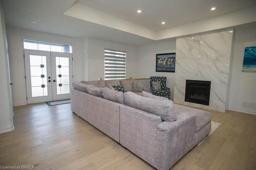
<path fill-rule="evenodd" d="M 245 47 L 242 72 L 256 72 L 256 46 Z"/>

